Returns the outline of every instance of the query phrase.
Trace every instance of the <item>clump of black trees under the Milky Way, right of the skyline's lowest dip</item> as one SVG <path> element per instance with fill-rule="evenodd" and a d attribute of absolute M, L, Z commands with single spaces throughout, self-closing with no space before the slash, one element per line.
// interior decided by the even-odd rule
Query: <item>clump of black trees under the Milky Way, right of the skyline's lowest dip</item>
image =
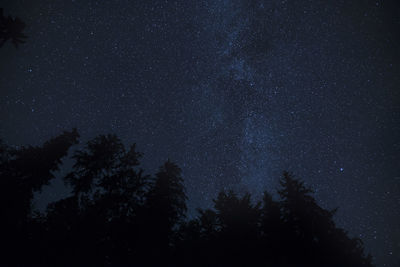
<path fill-rule="evenodd" d="M 262 205 L 250 195 L 221 192 L 214 209 L 182 226 L 179 258 L 186 264 L 372 266 L 360 240 L 333 221 L 312 190 L 285 172 L 280 201 L 265 192 Z"/>

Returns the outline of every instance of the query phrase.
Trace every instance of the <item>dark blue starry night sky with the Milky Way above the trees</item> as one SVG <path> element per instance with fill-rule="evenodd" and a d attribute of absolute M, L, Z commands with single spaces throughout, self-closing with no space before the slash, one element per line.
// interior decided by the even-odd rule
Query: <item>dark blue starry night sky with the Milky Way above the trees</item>
<path fill-rule="evenodd" d="M 274 192 L 288 170 L 398 266 L 396 2 L 2 0 L 29 39 L 0 48 L 0 138 L 115 133 L 149 173 L 178 163 L 191 213 L 224 188 Z M 36 204 L 67 193 L 56 180 Z"/>

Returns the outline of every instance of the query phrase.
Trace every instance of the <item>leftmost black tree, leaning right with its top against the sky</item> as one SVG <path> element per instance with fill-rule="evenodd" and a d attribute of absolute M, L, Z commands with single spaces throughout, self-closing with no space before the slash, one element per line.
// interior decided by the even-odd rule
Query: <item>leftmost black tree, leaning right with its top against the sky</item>
<path fill-rule="evenodd" d="M 29 247 L 27 233 L 32 223 L 32 199 L 34 192 L 54 179 L 61 159 L 69 148 L 77 143 L 76 129 L 45 142 L 41 147 L 11 148 L 1 144 L 0 153 L 0 231 L 2 240 L 8 243 L 5 259 L 16 256 L 17 249 Z M 3 248 L 4 249 L 4 248 Z"/>

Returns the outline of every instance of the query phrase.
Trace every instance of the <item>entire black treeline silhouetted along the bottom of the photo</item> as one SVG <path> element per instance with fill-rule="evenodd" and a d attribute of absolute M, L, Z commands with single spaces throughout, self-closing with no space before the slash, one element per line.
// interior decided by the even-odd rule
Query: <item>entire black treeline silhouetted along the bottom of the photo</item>
<path fill-rule="evenodd" d="M 372 266 L 361 240 L 335 226 L 335 210 L 289 173 L 279 201 L 223 191 L 188 220 L 180 168 L 167 161 L 145 175 L 142 154 L 115 135 L 75 151 L 64 177 L 71 195 L 35 212 L 34 192 L 78 138 L 73 130 L 40 147 L 0 144 L 0 263 Z"/>

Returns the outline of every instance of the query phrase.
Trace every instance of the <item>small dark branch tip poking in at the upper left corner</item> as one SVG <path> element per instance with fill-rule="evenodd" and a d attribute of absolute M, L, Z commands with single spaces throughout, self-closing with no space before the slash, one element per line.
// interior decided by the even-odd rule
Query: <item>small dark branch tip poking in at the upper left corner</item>
<path fill-rule="evenodd" d="M 0 8 L 0 47 L 8 40 L 11 40 L 15 48 L 18 48 L 19 44 L 25 43 L 24 39 L 28 38 L 22 33 L 25 27 L 25 23 L 20 18 L 5 17 L 3 9 Z"/>

